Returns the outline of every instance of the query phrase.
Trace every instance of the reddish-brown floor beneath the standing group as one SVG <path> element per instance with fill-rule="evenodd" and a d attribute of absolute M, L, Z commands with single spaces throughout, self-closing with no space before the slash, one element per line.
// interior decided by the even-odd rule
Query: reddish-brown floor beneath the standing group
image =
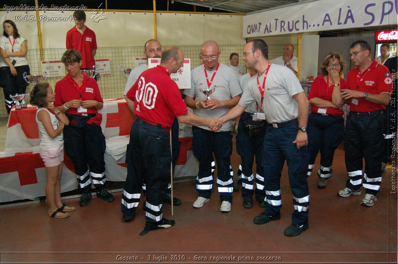
<path fill-rule="evenodd" d="M 235 173 L 239 162 L 234 151 L 231 164 Z M 174 216 L 170 205 L 163 206 L 163 216 L 176 220 L 176 225 L 145 236 L 138 235 L 145 225 L 143 198 L 133 222 L 124 223 L 121 192 L 114 193 L 114 202 L 94 196 L 87 207 L 79 207 L 79 198 L 64 200 L 76 207 L 65 219 L 49 218 L 44 199 L 38 204 L 0 208 L 1 262 L 213 263 L 217 258 L 210 257 L 223 257 L 219 262 L 230 263 L 241 257 L 242 263 L 397 263 L 397 196 L 390 194 L 392 170 L 382 173 L 378 200 L 367 208 L 360 205 L 364 191 L 347 198 L 337 195 L 347 180 L 341 147 L 336 150 L 334 176 L 326 189 L 316 187 L 319 156 L 315 164 L 308 178 L 310 227 L 298 237 L 283 235 L 293 211 L 285 165 L 282 218 L 264 225 L 252 222 L 263 208 L 256 203 L 244 208 L 240 192 L 233 193 L 231 212 L 221 213 L 215 184 L 210 201 L 193 208 L 197 198 L 194 181 L 174 185 L 174 195 L 182 200 L 174 206 Z M 121 257 L 126 260 L 119 260 Z"/>

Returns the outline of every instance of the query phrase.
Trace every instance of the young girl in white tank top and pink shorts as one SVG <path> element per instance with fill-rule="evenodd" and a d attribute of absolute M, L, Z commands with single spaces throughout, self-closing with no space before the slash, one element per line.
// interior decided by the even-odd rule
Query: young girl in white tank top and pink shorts
<path fill-rule="evenodd" d="M 55 108 L 55 92 L 49 83 L 37 83 L 33 87 L 30 103 L 38 106 L 36 122 L 41 135 L 40 157 L 46 167 L 46 197 L 48 215 L 66 218 L 76 208 L 61 202 L 61 175 L 64 164 L 64 139 L 62 129 L 69 124 L 69 119 Z"/>

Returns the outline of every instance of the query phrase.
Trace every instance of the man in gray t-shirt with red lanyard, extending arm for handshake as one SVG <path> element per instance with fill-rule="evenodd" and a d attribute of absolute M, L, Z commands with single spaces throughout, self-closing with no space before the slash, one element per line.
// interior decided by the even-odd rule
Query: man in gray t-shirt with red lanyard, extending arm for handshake
<path fill-rule="evenodd" d="M 236 118 L 252 102 L 257 102 L 259 110 L 256 119 L 267 121 L 263 167 L 268 204 L 264 212 L 256 216 L 253 222 L 265 224 L 281 219 L 280 177 L 286 160 L 295 210 L 292 214 L 292 224 L 285 229 L 284 234 L 294 237 L 308 229 L 308 100 L 291 70 L 271 65 L 268 60 L 268 46 L 263 40 L 250 40 L 244 48 L 243 59 L 248 68 L 257 70 L 258 75 L 248 81 L 239 104 L 219 120 L 226 122 Z"/>

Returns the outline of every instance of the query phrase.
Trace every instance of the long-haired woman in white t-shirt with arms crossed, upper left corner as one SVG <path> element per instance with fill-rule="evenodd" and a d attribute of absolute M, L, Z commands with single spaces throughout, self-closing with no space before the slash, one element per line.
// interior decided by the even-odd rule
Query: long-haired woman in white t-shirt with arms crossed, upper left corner
<path fill-rule="evenodd" d="M 10 95 L 24 94 L 27 83 L 23 73 L 30 75 L 26 59 L 27 41 L 18 33 L 14 21 L 3 23 L 3 36 L 0 37 L 0 87 L 4 89 L 7 113 L 10 114 L 14 102 Z"/>

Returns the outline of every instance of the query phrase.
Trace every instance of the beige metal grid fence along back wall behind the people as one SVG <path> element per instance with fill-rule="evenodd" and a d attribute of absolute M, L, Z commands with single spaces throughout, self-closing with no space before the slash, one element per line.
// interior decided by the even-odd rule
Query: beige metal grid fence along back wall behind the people
<path fill-rule="evenodd" d="M 284 44 L 280 45 L 269 45 L 268 46 L 268 57 L 273 59 L 277 56 L 281 56 L 283 52 Z M 166 48 L 166 46 L 162 46 Z M 195 46 L 179 46 L 184 52 L 185 58 L 191 58 L 191 69 L 199 66 L 199 52 L 201 45 Z M 242 60 L 244 45 L 220 45 L 220 59 L 219 62 L 229 65 L 229 56 L 232 52 L 236 52 L 240 55 L 239 64 L 245 67 L 245 63 Z M 296 46 L 295 46 L 296 48 Z M 43 50 L 45 61 L 60 60 L 62 57 L 64 48 L 56 49 L 45 49 Z M 123 91 L 126 83 L 123 80 L 123 76 L 119 71 L 120 64 L 123 64 L 125 68 L 134 67 L 134 58 L 143 58 L 143 47 L 109 47 L 109 48 L 98 48 L 96 59 L 107 59 L 111 63 L 111 73 L 103 74 L 98 80 L 98 86 L 100 87 L 101 95 L 104 99 L 110 98 L 121 98 L 123 97 Z M 41 72 L 41 61 L 40 61 L 40 50 L 29 49 L 27 53 L 27 60 L 29 62 L 30 73 L 43 74 Z M 47 82 L 54 88 L 55 83 L 62 79 L 62 77 L 48 77 Z M 32 87 L 27 87 L 26 91 L 31 92 Z M 29 100 L 29 98 L 28 98 Z M 0 95 L 0 117 L 7 117 L 6 108 L 4 106 L 4 94 Z"/>

